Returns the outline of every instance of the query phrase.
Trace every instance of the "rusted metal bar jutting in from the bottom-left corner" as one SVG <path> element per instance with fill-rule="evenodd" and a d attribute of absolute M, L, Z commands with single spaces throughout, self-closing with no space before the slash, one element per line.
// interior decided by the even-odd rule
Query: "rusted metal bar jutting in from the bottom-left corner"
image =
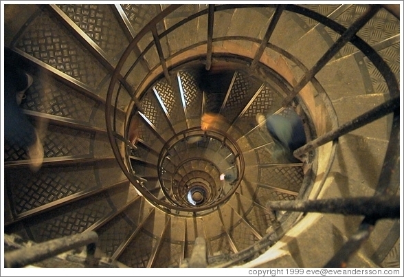
<path fill-rule="evenodd" d="M 4 267 L 25 267 L 25 265 L 31 265 L 85 245 L 87 245 L 87 254 L 91 255 L 97 241 L 96 232 L 87 232 L 5 252 Z"/>

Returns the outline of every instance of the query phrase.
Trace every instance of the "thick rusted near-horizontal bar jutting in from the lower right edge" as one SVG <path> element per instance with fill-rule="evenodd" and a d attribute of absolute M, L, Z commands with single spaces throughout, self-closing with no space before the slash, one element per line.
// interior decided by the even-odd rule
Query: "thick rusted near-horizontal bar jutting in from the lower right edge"
<path fill-rule="evenodd" d="M 372 219 L 400 218 L 400 198 L 398 196 L 269 201 L 267 208 L 293 212 L 364 215 Z"/>

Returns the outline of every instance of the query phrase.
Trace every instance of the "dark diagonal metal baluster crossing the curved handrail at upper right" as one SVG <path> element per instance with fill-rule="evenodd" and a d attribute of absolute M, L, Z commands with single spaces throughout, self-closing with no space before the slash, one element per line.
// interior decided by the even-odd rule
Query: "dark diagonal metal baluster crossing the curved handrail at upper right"
<path fill-rule="evenodd" d="M 381 5 L 370 5 L 370 8 L 362 14 L 357 21 L 352 23 L 350 27 L 342 34 L 337 41 L 327 50 L 327 52 L 317 61 L 317 63 L 302 77 L 298 85 L 293 88 L 293 91 L 284 98 L 282 107 L 287 107 L 291 100 L 310 82 L 311 79 L 335 56 L 339 50 L 346 45 L 355 34 L 361 30 L 363 25 L 368 23 L 370 19 L 381 9 Z"/>

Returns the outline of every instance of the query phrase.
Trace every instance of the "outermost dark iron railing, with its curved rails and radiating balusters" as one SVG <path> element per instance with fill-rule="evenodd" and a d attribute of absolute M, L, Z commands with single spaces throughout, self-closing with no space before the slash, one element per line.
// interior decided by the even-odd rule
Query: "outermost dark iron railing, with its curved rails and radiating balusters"
<path fill-rule="evenodd" d="M 128 96 L 131 97 L 132 102 L 128 107 L 128 113 L 131 113 L 134 109 L 137 109 L 141 111 L 141 107 L 139 105 L 139 98 L 142 97 L 142 94 L 144 91 L 146 91 L 146 88 L 150 83 L 152 83 L 153 80 L 155 80 L 155 76 L 158 76 L 159 74 L 164 74 L 166 76 L 167 80 L 170 80 L 169 76 L 169 69 L 170 67 L 173 67 L 175 63 L 178 60 L 186 60 L 187 58 L 181 56 L 181 54 L 186 53 L 189 49 L 200 49 L 201 45 L 206 46 L 206 51 L 205 54 L 202 55 L 202 58 L 205 58 L 205 65 L 206 68 L 209 69 L 211 64 L 212 64 L 212 56 L 214 56 L 214 53 L 212 52 L 212 43 L 216 43 L 218 41 L 236 41 L 236 40 L 245 40 L 245 41 L 256 41 L 256 38 L 248 38 L 246 36 L 225 36 L 225 37 L 217 37 L 213 38 L 212 34 L 214 32 L 214 19 L 215 16 L 214 14 L 216 12 L 220 11 L 225 11 L 225 10 L 233 10 L 233 9 L 240 9 L 240 8 L 276 8 L 276 14 L 273 16 L 273 19 L 271 21 L 271 24 L 269 24 L 267 34 L 265 35 L 264 39 L 259 41 L 260 47 L 258 48 L 254 59 L 251 62 L 251 67 L 254 69 L 258 65 L 258 61 L 260 60 L 260 56 L 262 55 L 263 50 L 265 47 L 268 47 L 270 49 L 275 49 L 279 50 L 279 52 L 282 54 L 281 49 L 278 49 L 276 45 L 271 45 L 269 41 L 271 41 L 271 32 L 273 31 L 274 28 L 276 28 L 276 23 L 278 16 L 282 13 L 282 10 L 284 11 L 289 11 L 289 12 L 295 12 L 298 14 L 302 14 L 304 16 L 307 16 L 310 19 L 313 19 L 317 21 L 318 23 L 321 23 L 322 25 L 330 28 L 330 30 L 333 30 L 333 32 L 336 32 L 337 34 L 340 35 L 339 39 L 328 49 L 328 51 L 320 58 L 317 63 L 311 69 L 308 69 L 308 71 L 305 71 L 304 76 L 300 79 L 298 82 L 298 85 L 295 85 L 295 87 L 291 88 L 291 91 L 285 91 L 286 97 L 284 98 L 283 101 L 283 107 L 287 107 L 292 100 L 295 100 L 295 98 L 298 96 L 298 93 L 302 90 L 304 86 L 308 84 L 308 82 L 312 82 L 313 84 L 317 82 L 315 80 L 315 75 L 321 71 L 322 68 L 328 63 L 328 61 L 333 58 L 339 50 L 344 47 L 347 43 L 351 43 L 352 45 L 355 45 L 357 49 L 363 54 L 363 56 L 366 56 L 370 60 L 370 62 L 374 65 L 374 67 L 377 68 L 377 70 L 380 72 L 381 76 L 383 76 L 383 79 L 385 80 L 385 83 L 388 86 L 388 91 L 390 93 L 390 98 L 391 100 L 387 100 L 385 103 L 381 104 L 380 107 L 377 107 L 376 109 L 373 109 L 372 111 L 369 111 L 367 113 L 364 113 L 363 115 L 360 115 L 357 119 L 352 120 L 351 122 L 348 122 L 347 124 L 344 124 L 343 126 L 339 128 L 335 128 L 334 130 L 320 134 L 319 137 L 317 137 L 313 142 L 308 142 L 306 146 L 303 146 L 302 148 L 298 149 L 298 151 L 295 152 L 295 155 L 302 155 L 303 153 L 306 153 L 307 151 L 313 151 L 316 148 L 319 148 L 322 146 L 322 144 L 326 142 L 336 142 L 338 137 L 341 135 L 344 135 L 350 131 L 356 130 L 359 127 L 363 126 L 364 124 L 368 124 L 370 122 L 373 122 L 374 120 L 377 120 L 378 118 L 384 117 L 386 115 L 389 115 L 390 113 L 394 112 L 394 122 L 392 125 L 392 131 L 390 134 L 390 141 L 388 145 L 388 151 L 386 153 L 385 157 L 385 163 L 383 165 L 380 181 L 379 181 L 379 189 L 377 190 L 378 194 L 385 194 L 386 192 L 390 194 L 395 194 L 396 189 L 397 189 L 397 184 L 398 182 L 398 175 L 397 173 L 394 173 L 394 170 L 392 171 L 391 168 L 395 168 L 398 164 L 399 160 L 399 85 L 396 80 L 396 77 L 394 76 L 392 70 L 388 66 L 387 63 L 381 58 L 381 56 L 370 46 L 366 41 L 363 41 L 362 38 L 357 36 L 357 32 L 361 30 L 363 25 L 366 25 L 370 19 L 376 14 L 381 8 L 385 8 L 388 11 L 392 11 L 391 6 L 385 6 L 383 5 L 369 5 L 369 8 L 366 12 L 363 13 L 362 16 L 355 21 L 350 27 L 346 28 L 342 26 L 341 24 L 337 23 L 336 21 L 333 21 L 333 19 L 330 19 L 326 16 L 323 16 L 321 14 L 318 14 L 316 12 L 313 12 L 311 10 L 308 10 L 306 8 L 302 8 L 299 5 L 209 5 L 208 8 L 205 10 L 201 10 L 199 12 L 196 12 L 195 14 L 192 14 L 188 16 L 186 19 L 183 19 L 182 21 L 179 21 L 175 25 L 172 25 L 170 28 L 165 30 L 164 32 L 161 32 L 161 34 L 158 34 L 157 32 L 157 24 L 164 21 L 167 16 L 172 14 L 172 12 L 175 12 L 177 8 L 179 8 L 179 5 L 170 5 L 168 8 L 163 10 L 160 14 L 155 16 L 154 19 L 152 19 L 134 38 L 133 41 L 128 45 L 126 48 L 124 54 L 122 54 L 122 58 L 120 61 L 117 63 L 117 66 L 115 67 L 115 70 L 113 71 L 113 75 L 111 78 L 111 83 L 109 85 L 109 90 L 106 98 L 106 126 L 107 126 L 107 131 L 109 134 L 109 139 L 111 141 L 111 145 L 113 148 L 113 153 L 115 154 L 115 157 L 117 157 L 117 160 L 122 168 L 124 170 L 125 175 L 128 177 L 128 179 L 131 180 L 131 182 L 136 186 L 137 190 L 142 195 L 148 195 L 148 191 L 141 185 L 142 184 L 142 179 L 139 179 L 136 175 L 133 175 L 130 170 L 128 170 L 128 165 L 125 163 L 124 156 L 126 155 L 126 151 L 124 150 L 125 148 L 122 147 L 120 144 L 120 140 L 117 140 L 117 137 L 126 137 L 125 135 L 125 124 L 124 122 L 124 127 L 120 129 L 120 124 L 119 120 L 117 117 L 117 108 L 116 108 L 116 103 L 118 102 L 118 99 L 122 96 L 123 93 L 127 93 Z M 393 9 L 394 10 L 394 9 Z M 170 56 L 164 56 L 164 49 L 161 48 L 161 40 L 163 38 L 166 38 L 168 34 L 174 32 L 178 27 L 186 24 L 189 21 L 192 21 L 192 19 L 196 19 L 199 16 L 203 16 L 207 14 L 208 16 L 208 23 L 206 26 L 207 30 L 207 39 L 206 41 L 201 41 L 194 43 L 193 45 L 188 45 L 187 47 L 184 47 L 183 49 L 180 49 L 176 53 L 170 54 Z M 397 16 L 397 12 L 393 12 L 395 16 Z M 128 60 L 129 55 L 135 51 L 139 41 L 141 41 L 142 38 L 144 38 L 147 34 L 153 35 L 153 41 L 150 42 L 150 44 L 145 47 L 144 51 L 139 54 L 139 56 L 135 60 Z M 155 48 L 153 48 L 155 47 Z M 142 64 L 142 59 L 144 56 L 147 54 L 150 54 L 149 51 L 152 49 L 157 50 L 157 54 L 159 57 L 159 64 L 155 65 L 151 70 L 149 74 L 146 74 L 142 76 L 142 82 L 139 82 L 135 84 L 133 89 L 128 89 L 127 82 L 125 81 L 128 76 L 131 76 L 131 74 L 136 74 L 138 66 Z M 199 57 L 200 58 L 200 57 Z M 127 66 L 130 64 L 130 69 L 128 71 L 123 71 L 124 65 Z M 113 103 L 115 102 L 115 107 L 112 108 L 114 105 Z M 129 115 L 126 115 L 126 120 Z M 332 159 L 330 159 L 330 163 L 332 164 Z M 328 167 L 329 168 L 329 167 Z M 304 190 L 304 188 L 302 188 Z M 304 193 L 307 195 L 307 192 Z M 150 199 L 149 199 L 150 200 Z M 372 201 L 372 199 L 370 199 Z M 176 208 L 172 207 L 169 205 L 166 205 L 166 203 L 163 203 L 162 201 L 159 201 L 159 199 L 151 199 L 151 202 L 155 206 L 165 206 L 168 210 L 171 208 Z M 279 208 L 279 207 L 278 207 Z M 291 220 L 295 220 L 296 217 L 292 217 Z M 290 222 L 289 225 L 292 225 L 293 223 Z M 374 222 L 369 223 L 368 218 L 363 221 L 361 227 L 359 228 L 359 232 L 362 232 L 363 230 L 369 230 L 366 228 L 368 224 L 374 224 Z M 370 232 L 370 231 L 368 231 Z M 363 236 L 366 237 L 366 236 Z M 237 261 L 242 261 L 245 260 L 248 256 L 251 256 L 253 253 L 256 253 L 257 251 L 265 249 L 265 247 L 270 246 L 271 244 L 274 243 L 274 238 L 273 234 L 269 234 L 265 237 L 262 238 L 262 240 L 259 243 L 256 243 L 256 245 L 251 246 L 244 250 L 243 252 L 236 253 L 232 256 L 232 261 L 222 264 L 221 266 L 229 266 L 233 263 L 236 263 Z M 348 246 L 343 247 L 341 252 L 338 252 L 336 254 L 336 257 L 330 261 L 326 266 L 334 266 L 334 265 L 339 265 L 341 266 L 341 253 L 343 253 L 342 256 L 346 256 L 347 253 L 352 254 L 352 251 L 355 251 L 358 249 L 359 244 L 355 244 L 355 247 L 351 247 L 352 244 L 350 244 L 350 241 L 348 242 Z M 348 250 L 348 247 L 351 247 L 353 250 Z M 337 263 L 335 263 L 337 261 Z"/>

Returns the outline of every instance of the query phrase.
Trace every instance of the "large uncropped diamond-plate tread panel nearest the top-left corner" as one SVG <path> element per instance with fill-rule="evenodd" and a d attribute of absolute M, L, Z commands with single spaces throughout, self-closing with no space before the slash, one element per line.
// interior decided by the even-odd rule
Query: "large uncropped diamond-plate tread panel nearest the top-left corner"
<path fill-rule="evenodd" d="M 89 87 L 98 87 L 108 74 L 47 9 L 27 26 L 16 47 Z"/>

